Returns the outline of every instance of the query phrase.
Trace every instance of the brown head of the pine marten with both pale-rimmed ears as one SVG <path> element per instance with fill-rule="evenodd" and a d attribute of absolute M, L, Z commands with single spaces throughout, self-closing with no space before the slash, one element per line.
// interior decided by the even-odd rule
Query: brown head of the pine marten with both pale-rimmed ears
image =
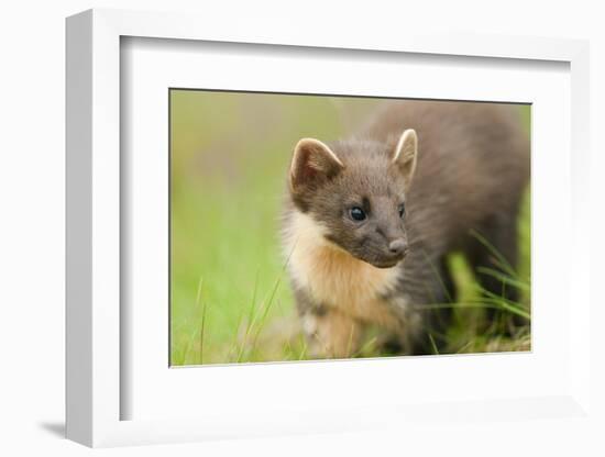
<path fill-rule="evenodd" d="M 296 208 L 331 243 L 380 268 L 408 249 L 406 193 L 416 168 L 417 136 L 406 130 L 391 144 L 302 138 L 296 145 L 289 188 Z"/>

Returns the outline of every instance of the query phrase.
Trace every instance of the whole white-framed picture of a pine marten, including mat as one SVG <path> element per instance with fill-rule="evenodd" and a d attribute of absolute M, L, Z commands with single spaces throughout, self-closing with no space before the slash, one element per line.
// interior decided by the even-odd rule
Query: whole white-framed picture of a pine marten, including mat
<path fill-rule="evenodd" d="M 67 20 L 67 436 L 592 421 L 587 44 L 240 25 Z"/>

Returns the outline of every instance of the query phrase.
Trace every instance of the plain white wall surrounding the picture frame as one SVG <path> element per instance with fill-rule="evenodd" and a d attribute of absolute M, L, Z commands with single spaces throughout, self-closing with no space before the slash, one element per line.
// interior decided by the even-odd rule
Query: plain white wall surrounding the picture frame
<path fill-rule="evenodd" d="M 217 0 L 123 0 L 96 2 L 13 0 L 0 10 L 0 454 L 80 455 L 90 450 L 62 438 L 64 421 L 64 18 L 92 7 L 145 10 L 197 11 L 212 14 L 229 26 L 233 14 L 251 20 L 271 14 L 306 21 L 309 33 L 339 23 L 354 22 L 361 34 L 373 27 L 406 27 L 515 33 L 591 40 L 593 192 L 593 271 L 605 254 L 602 215 L 605 172 L 605 14 L 597 1 L 287 1 L 235 2 Z M 553 133 L 556 134 L 556 133 Z M 556 227 L 554 227 L 556 230 Z M 603 236 L 603 235 L 602 235 Z M 565 241 L 562 241 L 562 248 Z M 597 275 L 600 276 L 600 275 Z M 595 276 L 595 278 L 597 277 Z M 600 285 L 593 286 L 598 292 Z M 597 310 L 594 322 L 605 313 Z M 605 348 L 601 334 L 593 336 L 594 350 Z M 597 349 L 598 347 L 598 349 Z M 605 386 L 602 366 L 597 381 Z M 522 376 L 522 374 L 519 374 Z M 603 408 L 603 393 L 594 394 Z M 569 425 L 551 421 L 539 432 L 507 426 L 497 434 L 477 424 L 472 430 L 422 436 L 380 432 L 337 436 L 239 441 L 110 449 L 109 455 L 370 455 L 421 454 L 458 450 L 468 455 L 598 455 Z M 514 431 L 512 434 L 510 432 Z M 578 431 L 576 431 L 578 432 Z M 595 431 L 585 431 L 586 436 Z M 466 434 L 464 448 L 451 448 L 453 436 Z M 409 453 L 418 455 L 418 452 Z M 601 454 L 603 455 L 603 454 Z"/>

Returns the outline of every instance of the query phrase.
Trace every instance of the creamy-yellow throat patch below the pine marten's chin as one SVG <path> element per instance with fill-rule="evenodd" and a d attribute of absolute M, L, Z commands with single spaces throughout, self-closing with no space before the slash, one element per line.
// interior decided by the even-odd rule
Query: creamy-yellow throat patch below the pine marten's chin
<path fill-rule="evenodd" d="M 354 258 L 326 239 L 326 232 L 308 214 L 294 211 L 284 247 L 295 285 L 318 303 L 388 325 L 393 316 L 382 297 L 395 288 L 400 270 L 376 268 Z"/>

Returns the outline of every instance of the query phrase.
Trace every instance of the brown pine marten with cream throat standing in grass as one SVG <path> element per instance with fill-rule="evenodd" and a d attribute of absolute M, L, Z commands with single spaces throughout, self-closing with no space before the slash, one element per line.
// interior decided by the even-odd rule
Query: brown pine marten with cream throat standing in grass
<path fill-rule="evenodd" d="M 455 296 L 446 256 L 462 250 L 474 268 L 494 267 L 474 232 L 516 264 L 516 215 L 529 175 L 519 124 L 512 105 L 391 102 L 352 138 L 297 145 L 284 246 L 317 356 L 354 354 L 369 324 L 408 353 L 426 352 L 427 330 L 448 316 L 422 305 Z M 405 129 L 417 133 L 417 159 L 414 142 L 397 151 Z M 366 220 L 353 220 L 352 207 Z M 496 292 L 502 286 L 480 280 Z"/>

